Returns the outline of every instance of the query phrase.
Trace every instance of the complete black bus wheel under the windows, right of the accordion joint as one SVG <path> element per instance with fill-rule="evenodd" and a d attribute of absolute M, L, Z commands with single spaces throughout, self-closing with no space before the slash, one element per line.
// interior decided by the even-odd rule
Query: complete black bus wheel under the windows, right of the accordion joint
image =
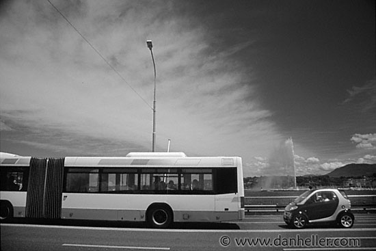
<path fill-rule="evenodd" d="M 148 208 L 146 220 L 152 228 L 167 228 L 173 222 L 172 209 L 167 204 L 155 204 Z"/>

